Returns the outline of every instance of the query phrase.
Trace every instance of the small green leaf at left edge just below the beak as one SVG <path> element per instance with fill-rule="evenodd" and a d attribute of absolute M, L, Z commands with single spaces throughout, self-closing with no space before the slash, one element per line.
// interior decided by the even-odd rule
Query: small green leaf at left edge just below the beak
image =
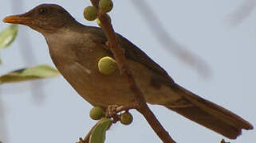
<path fill-rule="evenodd" d="M 18 25 L 10 25 L 0 33 L 0 49 L 8 47 L 18 33 Z"/>

